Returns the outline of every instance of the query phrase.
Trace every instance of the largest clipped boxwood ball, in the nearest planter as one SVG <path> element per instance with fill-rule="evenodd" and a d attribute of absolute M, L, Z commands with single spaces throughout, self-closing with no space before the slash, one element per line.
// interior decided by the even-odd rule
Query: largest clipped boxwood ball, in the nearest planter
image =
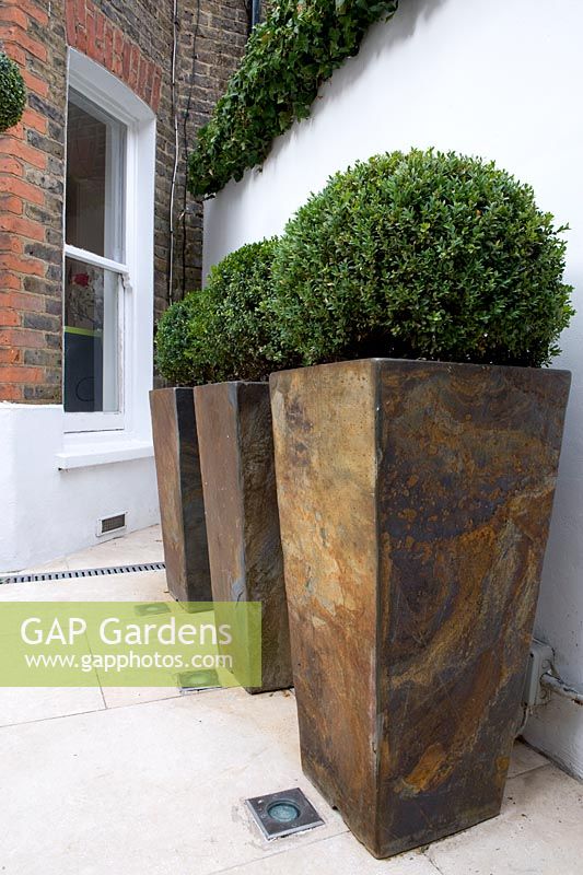
<path fill-rule="evenodd" d="M 529 186 L 479 159 L 358 163 L 288 223 L 273 266 L 283 346 L 303 364 L 548 363 L 573 314 L 564 230 Z"/>

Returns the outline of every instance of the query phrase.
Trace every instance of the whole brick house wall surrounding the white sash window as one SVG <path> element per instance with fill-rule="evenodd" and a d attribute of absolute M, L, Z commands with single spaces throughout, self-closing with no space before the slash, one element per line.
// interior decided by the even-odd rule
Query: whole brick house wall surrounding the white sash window
<path fill-rule="evenodd" d="M 178 0 L 174 298 L 200 282 L 201 209 L 185 197 L 185 151 L 246 39 L 245 0 L 201 0 L 200 10 L 195 46 L 197 0 Z M 0 400 L 61 400 L 68 45 L 102 63 L 158 114 L 155 315 L 168 303 L 173 0 L 2 0 L 0 47 L 21 67 L 28 94 L 21 124 L 0 136 Z"/>

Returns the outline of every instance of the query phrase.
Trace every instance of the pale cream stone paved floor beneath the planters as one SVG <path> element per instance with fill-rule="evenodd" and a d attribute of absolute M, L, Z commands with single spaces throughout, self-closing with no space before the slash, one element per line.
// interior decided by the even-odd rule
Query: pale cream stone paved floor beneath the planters
<path fill-rule="evenodd" d="M 54 568 L 158 561 L 158 528 Z M 1 600 L 158 600 L 164 574 L 0 586 Z M 302 775 L 292 693 L 0 690 L 7 875 L 581 875 L 583 784 L 517 743 L 502 814 L 376 861 Z M 301 786 L 325 825 L 267 843 L 244 798 Z"/>

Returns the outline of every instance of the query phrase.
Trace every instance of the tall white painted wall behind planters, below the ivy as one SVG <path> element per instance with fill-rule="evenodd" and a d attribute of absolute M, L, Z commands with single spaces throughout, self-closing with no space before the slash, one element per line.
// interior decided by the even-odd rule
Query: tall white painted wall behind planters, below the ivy
<path fill-rule="evenodd" d="M 583 687 L 583 4 L 580 0 L 401 0 L 393 22 L 322 90 L 311 118 L 276 142 L 263 172 L 205 213 L 205 267 L 280 233 L 329 174 L 410 147 L 494 159 L 569 222 L 567 276 L 580 315 L 558 366 L 573 371 L 560 482 L 537 618 L 557 668 Z M 556 701 L 526 736 L 583 775 L 583 709 Z"/>

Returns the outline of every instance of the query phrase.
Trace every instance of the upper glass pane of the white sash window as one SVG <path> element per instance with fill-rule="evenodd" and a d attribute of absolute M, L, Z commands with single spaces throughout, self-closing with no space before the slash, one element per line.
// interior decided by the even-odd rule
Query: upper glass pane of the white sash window
<path fill-rule="evenodd" d="M 67 243 L 115 261 L 124 260 L 125 135 L 125 125 L 69 92 Z"/>

